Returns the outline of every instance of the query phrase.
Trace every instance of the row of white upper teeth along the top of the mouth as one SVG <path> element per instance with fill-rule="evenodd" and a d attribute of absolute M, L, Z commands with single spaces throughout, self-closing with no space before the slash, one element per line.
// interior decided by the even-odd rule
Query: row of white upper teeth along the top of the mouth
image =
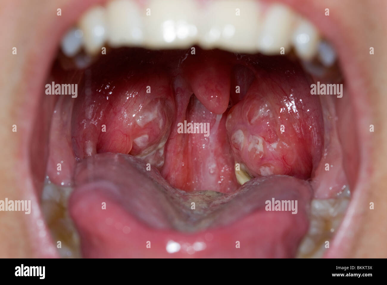
<path fill-rule="evenodd" d="M 150 0 L 140 6 L 133 0 L 113 0 L 106 8 L 89 9 L 78 23 L 82 33 L 72 29 L 62 40 L 63 53 L 75 55 L 79 35 L 86 52 L 101 51 L 107 41 L 112 47 L 222 48 L 231 52 L 289 52 L 292 44 L 301 59 L 319 53 L 327 64 L 331 53 L 320 49 L 317 29 L 287 7 L 264 7 L 255 0 L 218 0 L 198 6 L 195 0 Z M 333 64 L 333 63 L 332 63 Z"/>

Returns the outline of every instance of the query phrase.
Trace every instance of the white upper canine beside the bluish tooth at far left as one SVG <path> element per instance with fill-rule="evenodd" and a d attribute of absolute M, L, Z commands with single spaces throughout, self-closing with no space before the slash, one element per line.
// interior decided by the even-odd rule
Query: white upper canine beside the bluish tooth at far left
<path fill-rule="evenodd" d="M 94 7 L 84 14 L 79 21 L 83 32 L 84 47 L 87 52 L 98 52 L 106 40 L 106 11 L 103 7 Z"/>

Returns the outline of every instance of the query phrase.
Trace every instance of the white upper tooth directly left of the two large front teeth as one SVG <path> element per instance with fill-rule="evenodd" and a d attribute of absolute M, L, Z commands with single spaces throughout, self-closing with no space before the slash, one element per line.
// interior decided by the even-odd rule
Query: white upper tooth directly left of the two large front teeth
<path fill-rule="evenodd" d="M 143 20 L 139 6 L 131 0 L 114 0 L 106 6 L 108 41 L 111 47 L 139 45 L 143 40 Z"/>

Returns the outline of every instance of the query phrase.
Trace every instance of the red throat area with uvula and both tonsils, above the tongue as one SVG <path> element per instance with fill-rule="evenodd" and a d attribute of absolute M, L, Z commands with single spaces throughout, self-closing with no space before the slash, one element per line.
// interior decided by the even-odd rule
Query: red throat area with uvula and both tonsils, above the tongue
<path fill-rule="evenodd" d="M 71 147 L 77 160 L 103 152 L 141 157 L 173 187 L 187 191 L 236 190 L 236 164 L 243 164 L 251 177 L 310 178 L 320 160 L 324 126 L 319 98 L 310 96 L 310 79 L 300 66 L 261 55 L 247 60 L 220 51 L 197 52 L 198 57 L 122 49 L 103 57 L 78 74 L 79 98 L 60 101 L 54 114 L 72 114 L 61 124 L 71 133 L 65 139 L 71 145 L 63 145 L 58 136 L 51 137 L 52 144 L 62 143 L 66 153 Z M 249 69 L 255 79 L 232 73 L 235 66 Z M 240 102 L 230 87 L 235 77 L 232 81 L 243 84 L 237 87 L 247 90 Z M 206 93 L 211 84 L 212 93 Z M 200 128 L 181 133 L 185 121 L 209 126 L 208 135 Z M 74 168 L 74 158 L 55 159 Z M 72 171 L 58 175 L 49 169 L 51 181 L 71 183 Z"/>

